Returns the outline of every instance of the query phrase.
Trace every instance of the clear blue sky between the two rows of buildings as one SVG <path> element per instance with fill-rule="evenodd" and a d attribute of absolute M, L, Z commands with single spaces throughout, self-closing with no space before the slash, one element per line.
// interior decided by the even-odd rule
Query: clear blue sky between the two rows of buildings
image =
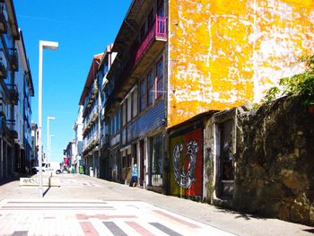
<path fill-rule="evenodd" d="M 131 0 L 14 0 L 30 59 L 35 97 L 31 119 L 38 122 L 39 40 L 58 41 L 44 50 L 42 142 L 47 150 L 47 117 L 52 138 L 51 161 L 61 162 L 63 150 L 74 139 L 72 129 L 92 56 L 112 43 Z"/>

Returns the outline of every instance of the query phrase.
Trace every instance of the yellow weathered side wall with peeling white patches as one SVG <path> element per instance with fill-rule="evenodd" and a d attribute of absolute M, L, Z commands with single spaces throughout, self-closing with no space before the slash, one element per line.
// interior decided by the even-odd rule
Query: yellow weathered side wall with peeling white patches
<path fill-rule="evenodd" d="M 313 0 L 169 0 L 168 127 L 258 102 L 314 48 Z"/>

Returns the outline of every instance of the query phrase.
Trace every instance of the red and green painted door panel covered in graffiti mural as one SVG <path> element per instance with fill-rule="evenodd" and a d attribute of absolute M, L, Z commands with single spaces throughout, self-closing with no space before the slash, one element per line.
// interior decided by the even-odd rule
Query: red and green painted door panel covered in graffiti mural
<path fill-rule="evenodd" d="M 170 138 L 170 195 L 201 197 L 202 129 Z"/>

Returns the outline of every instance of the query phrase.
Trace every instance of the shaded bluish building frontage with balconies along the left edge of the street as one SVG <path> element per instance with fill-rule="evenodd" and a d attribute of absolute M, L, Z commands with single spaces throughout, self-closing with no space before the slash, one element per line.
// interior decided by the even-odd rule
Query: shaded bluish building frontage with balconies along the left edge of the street
<path fill-rule="evenodd" d="M 31 171 L 31 72 L 13 1 L 0 3 L 0 180 Z"/>

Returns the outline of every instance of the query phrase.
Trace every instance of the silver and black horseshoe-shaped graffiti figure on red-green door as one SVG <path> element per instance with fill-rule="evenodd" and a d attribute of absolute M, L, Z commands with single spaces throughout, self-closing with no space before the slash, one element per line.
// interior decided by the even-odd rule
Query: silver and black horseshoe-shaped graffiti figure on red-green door
<path fill-rule="evenodd" d="M 174 178 L 181 188 L 188 189 L 195 181 L 196 172 L 196 155 L 198 152 L 198 144 L 195 140 L 187 144 L 188 171 L 185 171 L 184 165 L 180 164 L 180 153 L 182 153 L 183 144 L 175 145 L 172 155 L 172 164 L 174 170 Z"/>

